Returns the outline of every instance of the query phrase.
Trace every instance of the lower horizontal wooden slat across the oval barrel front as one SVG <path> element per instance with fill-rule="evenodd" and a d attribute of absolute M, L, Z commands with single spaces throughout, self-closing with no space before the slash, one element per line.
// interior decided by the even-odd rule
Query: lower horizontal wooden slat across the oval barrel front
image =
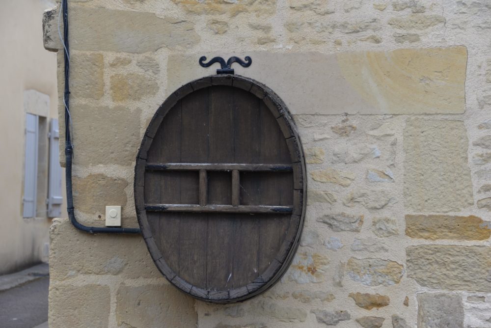
<path fill-rule="evenodd" d="M 265 205 L 194 205 L 194 204 L 145 204 L 145 210 L 155 212 L 224 212 L 224 213 L 292 213 L 291 206 Z"/>

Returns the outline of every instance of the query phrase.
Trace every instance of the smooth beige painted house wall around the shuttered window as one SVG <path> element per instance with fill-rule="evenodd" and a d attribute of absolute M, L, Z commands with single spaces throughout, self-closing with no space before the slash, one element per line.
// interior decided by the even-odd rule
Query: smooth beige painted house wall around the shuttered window
<path fill-rule="evenodd" d="M 49 0 L 0 2 L 0 274 L 47 260 L 43 248 L 52 220 L 22 218 L 24 91 L 49 95 L 49 116 L 57 116 L 56 55 L 44 50 L 41 30 L 42 13 L 53 5 Z"/>

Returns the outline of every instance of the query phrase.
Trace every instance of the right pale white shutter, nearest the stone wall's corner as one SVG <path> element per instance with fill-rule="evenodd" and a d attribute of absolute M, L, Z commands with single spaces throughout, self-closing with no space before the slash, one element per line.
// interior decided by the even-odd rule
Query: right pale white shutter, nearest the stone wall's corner
<path fill-rule="evenodd" d="M 50 124 L 50 173 L 48 187 L 48 217 L 57 218 L 61 215 L 63 194 L 61 186 L 62 170 L 59 163 L 59 129 L 58 120 L 52 119 Z"/>

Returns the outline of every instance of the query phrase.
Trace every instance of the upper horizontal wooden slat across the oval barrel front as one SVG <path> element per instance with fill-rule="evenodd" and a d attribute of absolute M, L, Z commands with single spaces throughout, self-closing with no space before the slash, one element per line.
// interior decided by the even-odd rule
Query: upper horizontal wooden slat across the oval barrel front
<path fill-rule="evenodd" d="M 211 163 L 148 163 L 147 170 L 201 170 L 208 171 L 293 171 L 292 164 L 211 164 Z"/>

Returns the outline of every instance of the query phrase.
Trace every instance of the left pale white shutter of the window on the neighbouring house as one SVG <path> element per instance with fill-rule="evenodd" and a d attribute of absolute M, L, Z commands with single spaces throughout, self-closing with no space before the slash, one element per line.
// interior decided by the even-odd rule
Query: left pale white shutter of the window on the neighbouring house
<path fill-rule="evenodd" d="M 26 115 L 26 157 L 24 159 L 24 206 L 22 216 L 24 218 L 33 218 L 36 216 L 39 116 Z"/>

